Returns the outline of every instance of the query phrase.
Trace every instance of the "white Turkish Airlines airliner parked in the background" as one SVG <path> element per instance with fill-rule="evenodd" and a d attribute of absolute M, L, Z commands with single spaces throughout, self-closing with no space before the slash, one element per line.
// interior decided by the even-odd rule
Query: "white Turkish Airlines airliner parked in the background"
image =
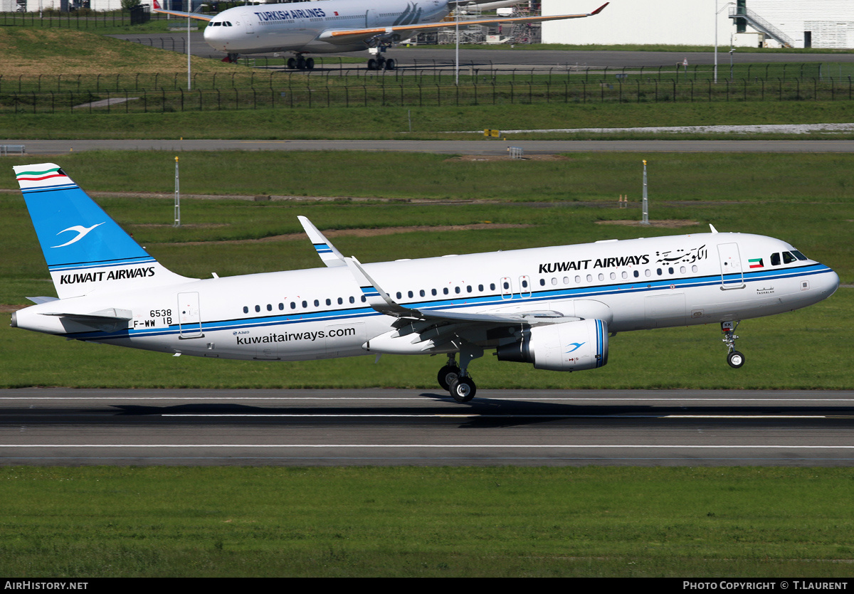
<path fill-rule="evenodd" d="M 456 3 L 457 0 L 325 0 L 237 6 L 210 16 L 163 10 L 155 0 L 155 12 L 209 20 L 204 31 L 205 41 L 214 50 L 228 54 L 227 61 L 236 61 L 239 54 L 290 51 L 295 57 L 290 58 L 288 67 L 311 70 L 314 60 L 306 58 L 305 54 L 371 50 L 369 70 L 392 70 L 395 61 L 383 56 L 389 44 L 412 38 L 418 32 L 451 26 L 453 23 L 442 22 L 442 19 Z M 465 24 L 581 19 L 598 15 L 607 5 L 584 15 L 501 17 L 465 20 Z"/>

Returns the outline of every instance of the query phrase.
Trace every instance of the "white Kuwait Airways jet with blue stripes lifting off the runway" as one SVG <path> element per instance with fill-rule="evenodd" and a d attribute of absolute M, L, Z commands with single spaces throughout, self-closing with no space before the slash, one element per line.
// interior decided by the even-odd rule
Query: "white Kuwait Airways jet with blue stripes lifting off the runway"
<path fill-rule="evenodd" d="M 300 217 L 325 267 L 196 279 L 168 271 L 53 163 L 15 166 L 56 297 L 12 326 L 174 355 L 296 361 L 445 354 L 438 380 L 470 400 L 473 359 L 576 371 L 608 361 L 609 333 L 734 326 L 834 293 L 828 266 L 739 233 L 535 247 L 362 265 Z M 459 364 L 457 354 L 459 353 Z"/>

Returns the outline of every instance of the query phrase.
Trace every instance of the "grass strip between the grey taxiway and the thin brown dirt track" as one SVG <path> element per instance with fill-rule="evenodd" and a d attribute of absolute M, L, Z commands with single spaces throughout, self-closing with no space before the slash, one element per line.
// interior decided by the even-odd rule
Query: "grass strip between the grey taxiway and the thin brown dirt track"
<path fill-rule="evenodd" d="M 635 203 L 640 200 L 642 160 L 646 160 L 653 204 L 847 203 L 854 198 L 851 154 L 608 152 L 543 160 L 475 160 L 447 154 L 370 151 L 180 151 L 176 145 L 174 152 L 9 156 L 0 168 L 0 187 L 18 189 L 12 166 L 52 160 L 87 191 L 159 192 L 171 198 L 174 159 L 179 156 L 184 194 L 600 201 L 616 205 L 623 194 L 629 194 Z M 484 141 L 483 147 L 494 150 L 495 144 Z M 453 220 L 453 207 L 446 207 L 443 213 L 446 220 Z M 167 222 L 171 224 L 172 218 Z"/>

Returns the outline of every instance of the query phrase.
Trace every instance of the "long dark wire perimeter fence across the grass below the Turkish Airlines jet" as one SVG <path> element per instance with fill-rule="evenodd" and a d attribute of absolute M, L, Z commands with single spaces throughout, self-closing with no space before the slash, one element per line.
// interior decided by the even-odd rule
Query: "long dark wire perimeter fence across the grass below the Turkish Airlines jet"
<path fill-rule="evenodd" d="M 791 67 L 791 65 L 789 65 Z M 812 67 L 814 65 L 810 65 Z M 354 74 L 244 71 L 193 75 L 0 76 L 0 113 L 148 113 L 259 108 L 430 107 L 532 103 L 851 101 L 850 75 L 793 78 L 658 79 L 629 73 L 598 79 L 516 73 Z M 817 70 L 813 70 L 817 73 Z"/>

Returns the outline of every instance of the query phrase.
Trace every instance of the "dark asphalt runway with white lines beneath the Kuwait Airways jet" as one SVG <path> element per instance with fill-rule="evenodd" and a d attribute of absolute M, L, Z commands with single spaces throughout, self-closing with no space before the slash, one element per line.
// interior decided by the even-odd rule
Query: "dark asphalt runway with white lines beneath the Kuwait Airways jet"
<path fill-rule="evenodd" d="M 0 390 L 5 465 L 854 466 L 854 391 Z"/>

